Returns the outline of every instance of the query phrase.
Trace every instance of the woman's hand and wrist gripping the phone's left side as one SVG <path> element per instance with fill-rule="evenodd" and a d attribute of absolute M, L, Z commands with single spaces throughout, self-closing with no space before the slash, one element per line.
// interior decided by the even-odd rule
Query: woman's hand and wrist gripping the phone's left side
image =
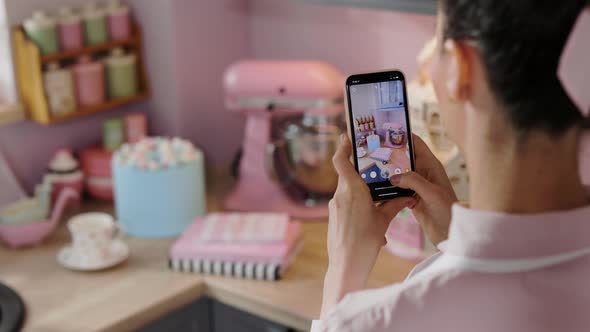
<path fill-rule="evenodd" d="M 349 292 L 365 288 L 391 220 L 417 200 L 404 197 L 375 205 L 367 184 L 350 162 L 352 145 L 342 135 L 334 155 L 338 188 L 330 201 L 328 272 L 324 280 L 322 315 Z"/>

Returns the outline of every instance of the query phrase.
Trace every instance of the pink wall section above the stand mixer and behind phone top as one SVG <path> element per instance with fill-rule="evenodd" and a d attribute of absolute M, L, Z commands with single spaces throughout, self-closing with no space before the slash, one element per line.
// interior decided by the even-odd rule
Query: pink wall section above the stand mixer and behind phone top
<path fill-rule="evenodd" d="M 399 68 L 411 78 L 434 16 L 299 1 L 251 0 L 250 45 L 258 58 L 311 58 L 345 73 Z"/>

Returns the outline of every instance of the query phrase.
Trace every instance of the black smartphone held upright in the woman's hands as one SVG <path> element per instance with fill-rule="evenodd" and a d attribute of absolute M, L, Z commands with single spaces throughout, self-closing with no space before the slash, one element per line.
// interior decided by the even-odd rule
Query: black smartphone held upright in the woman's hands
<path fill-rule="evenodd" d="M 389 181 L 416 169 L 404 74 L 352 75 L 346 80 L 346 96 L 354 165 L 373 200 L 414 195 Z"/>

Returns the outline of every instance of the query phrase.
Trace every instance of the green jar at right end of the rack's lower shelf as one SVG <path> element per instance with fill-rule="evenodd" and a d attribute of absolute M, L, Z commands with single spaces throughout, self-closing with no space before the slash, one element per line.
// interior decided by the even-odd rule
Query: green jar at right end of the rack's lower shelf
<path fill-rule="evenodd" d="M 116 48 L 105 59 L 109 99 L 125 98 L 139 92 L 137 57 Z"/>

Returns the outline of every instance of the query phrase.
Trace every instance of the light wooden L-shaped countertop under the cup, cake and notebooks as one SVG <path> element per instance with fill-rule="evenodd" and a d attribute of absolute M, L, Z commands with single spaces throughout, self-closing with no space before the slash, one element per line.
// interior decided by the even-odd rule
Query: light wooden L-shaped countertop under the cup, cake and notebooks
<path fill-rule="evenodd" d="M 85 206 L 84 210 L 112 212 L 112 207 L 95 204 Z M 303 231 L 304 247 L 279 282 L 171 272 L 166 255 L 173 239 L 127 238 L 131 257 L 126 263 L 102 272 L 69 271 L 56 262 L 58 250 L 70 241 L 63 226 L 39 247 L 0 248 L 0 280 L 25 301 L 25 331 L 132 330 L 204 295 L 260 317 L 309 330 L 321 306 L 327 267 L 327 224 L 306 223 Z M 383 251 L 369 286 L 401 281 L 413 266 L 414 263 Z"/>

